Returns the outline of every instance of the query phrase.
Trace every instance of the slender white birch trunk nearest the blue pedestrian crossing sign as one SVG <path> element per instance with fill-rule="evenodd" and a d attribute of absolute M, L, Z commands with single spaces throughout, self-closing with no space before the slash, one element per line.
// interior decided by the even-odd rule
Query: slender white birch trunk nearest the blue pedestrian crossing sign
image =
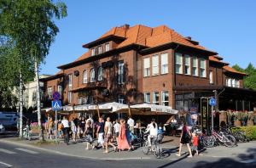
<path fill-rule="evenodd" d="M 44 132 L 41 122 L 41 99 L 40 99 L 40 84 L 38 75 L 38 62 L 35 61 L 35 75 L 36 75 L 36 85 L 37 85 L 37 100 L 38 100 L 38 127 L 39 127 L 39 140 L 44 140 Z"/>

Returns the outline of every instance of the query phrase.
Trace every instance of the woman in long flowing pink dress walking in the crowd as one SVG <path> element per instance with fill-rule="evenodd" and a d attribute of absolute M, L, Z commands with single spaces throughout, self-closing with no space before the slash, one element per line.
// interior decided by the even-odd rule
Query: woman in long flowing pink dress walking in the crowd
<path fill-rule="evenodd" d="M 131 150 L 130 145 L 127 141 L 127 138 L 125 136 L 125 133 L 126 133 L 125 120 L 122 119 L 122 120 L 120 120 L 120 130 L 119 130 L 119 139 L 118 139 L 118 149 L 119 149 L 119 151 L 125 150 L 125 149 Z"/>

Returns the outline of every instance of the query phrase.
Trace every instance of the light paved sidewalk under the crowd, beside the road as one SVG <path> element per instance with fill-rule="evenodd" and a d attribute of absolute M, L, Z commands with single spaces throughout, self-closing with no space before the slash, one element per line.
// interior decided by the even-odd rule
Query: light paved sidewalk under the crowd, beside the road
<path fill-rule="evenodd" d="M 154 155 L 143 154 L 142 148 L 136 148 L 134 151 L 122 151 L 114 152 L 113 148 L 109 148 L 108 154 L 103 154 L 103 149 L 85 150 L 85 143 L 73 143 L 71 140 L 69 145 L 63 143 L 55 143 L 53 141 L 47 141 L 46 143 L 39 143 L 38 140 L 26 141 L 20 140 L 17 137 L 1 138 L 0 142 L 12 143 L 16 145 L 22 145 L 31 148 L 38 148 L 46 152 L 62 154 L 67 156 L 74 156 L 79 158 L 86 158 L 92 160 L 151 160 L 154 159 Z M 179 137 L 165 137 L 161 147 L 165 152 L 164 160 L 177 160 L 177 146 L 179 144 Z M 247 154 L 248 149 L 256 150 L 256 142 L 239 143 L 236 148 L 226 148 L 218 146 L 214 148 L 206 148 L 199 156 L 200 158 L 233 158 L 238 159 L 242 154 Z M 183 147 L 183 154 L 187 152 L 187 148 Z M 256 158 L 256 156 L 252 156 Z"/>

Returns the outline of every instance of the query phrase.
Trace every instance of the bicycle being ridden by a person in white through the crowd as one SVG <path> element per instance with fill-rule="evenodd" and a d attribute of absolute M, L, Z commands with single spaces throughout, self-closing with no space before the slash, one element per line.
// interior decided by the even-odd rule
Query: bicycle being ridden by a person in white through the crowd
<path fill-rule="evenodd" d="M 160 159 L 163 151 L 162 148 L 160 147 L 160 139 L 157 137 L 154 137 L 152 139 L 152 143 L 151 146 L 149 146 L 149 142 L 148 142 L 148 134 L 144 135 L 143 140 L 144 140 L 144 144 L 143 144 L 143 154 L 154 154 L 154 156 L 157 159 Z"/>

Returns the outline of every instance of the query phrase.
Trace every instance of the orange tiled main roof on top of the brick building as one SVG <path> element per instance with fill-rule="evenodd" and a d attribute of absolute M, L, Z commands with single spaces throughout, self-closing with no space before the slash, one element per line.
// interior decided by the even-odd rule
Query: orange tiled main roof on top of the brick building
<path fill-rule="evenodd" d="M 117 48 L 122 48 L 130 44 L 139 44 L 153 48 L 169 42 L 177 42 L 192 48 L 206 50 L 206 48 L 200 45 L 193 44 L 189 39 L 181 36 L 166 25 L 160 25 L 154 28 L 145 25 L 134 25 L 129 28 L 125 26 L 113 27 L 110 31 L 102 35 L 100 39 L 111 35 L 126 38 L 124 42 L 119 43 Z"/>

